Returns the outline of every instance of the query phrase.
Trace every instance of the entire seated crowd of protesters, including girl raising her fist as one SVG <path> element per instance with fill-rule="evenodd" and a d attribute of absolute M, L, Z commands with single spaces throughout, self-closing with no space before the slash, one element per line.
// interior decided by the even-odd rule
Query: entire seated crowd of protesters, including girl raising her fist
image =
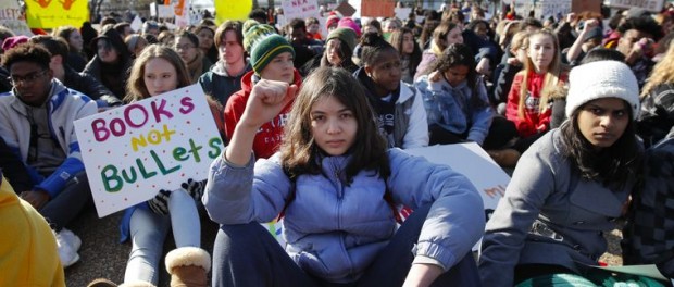
<path fill-rule="evenodd" d="M 0 215 L 29 238 L 2 240 L 0 285 L 62 286 L 79 261 L 73 122 L 200 84 L 226 148 L 207 180 L 123 211 L 121 286 L 164 261 L 172 286 L 670 286 L 591 267 L 624 220 L 624 262 L 674 277 L 674 7 L 614 12 L 0 27 Z M 489 219 L 466 177 L 404 152 L 460 142 L 514 170 Z"/>

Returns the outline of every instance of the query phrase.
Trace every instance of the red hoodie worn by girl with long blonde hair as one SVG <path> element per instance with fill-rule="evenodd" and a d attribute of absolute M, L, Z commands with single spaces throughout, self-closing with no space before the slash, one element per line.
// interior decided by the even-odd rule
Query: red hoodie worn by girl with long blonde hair
<path fill-rule="evenodd" d="M 535 72 L 529 72 L 526 99 L 524 99 L 524 118 L 519 116 L 520 107 L 520 89 L 522 88 L 522 80 L 524 80 L 524 73 L 517 73 L 512 82 L 512 87 L 508 93 L 508 104 L 506 105 L 506 117 L 515 123 L 517 133 L 521 137 L 529 137 L 538 133 L 547 132 L 550 128 L 550 115 L 552 109 L 548 108 L 540 113 L 540 91 L 545 82 L 545 74 L 539 75 Z M 564 75 L 560 77 L 560 82 L 566 82 Z"/>

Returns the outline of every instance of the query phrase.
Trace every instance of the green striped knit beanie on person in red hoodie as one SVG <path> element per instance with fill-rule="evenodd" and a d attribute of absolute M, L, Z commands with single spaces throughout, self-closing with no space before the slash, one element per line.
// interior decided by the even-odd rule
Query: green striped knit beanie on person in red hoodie
<path fill-rule="evenodd" d="M 244 49 L 250 54 L 250 65 L 255 74 L 260 75 L 260 72 L 283 52 L 290 52 L 295 58 L 290 42 L 276 34 L 274 27 L 249 20 L 244 24 Z"/>

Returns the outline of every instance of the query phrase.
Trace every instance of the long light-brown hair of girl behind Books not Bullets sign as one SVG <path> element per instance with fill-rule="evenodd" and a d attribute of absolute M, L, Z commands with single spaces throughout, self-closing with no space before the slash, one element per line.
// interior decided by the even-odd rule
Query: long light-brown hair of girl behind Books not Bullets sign
<path fill-rule="evenodd" d="M 138 55 L 134 62 L 132 73 L 126 84 L 126 97 L 124 97 L 125 102 L 150 98 L 150 92 L 148 91 L 148 87 L 146 87 L 143 79 L 145 65 L 154 58 L 164 59 L 168 61 L 173 67 L 175 67 L 175 72 L 177 74 L 176 78 L 178 79 L 177 88 L 186 87 L 191 84 L 187 73 L 187 67 L 185 67 L 185 62 L 180 55 L 167 46 L 153 43 L 145 48 L 145 50 L 142 50 L 140 55 Z"/>

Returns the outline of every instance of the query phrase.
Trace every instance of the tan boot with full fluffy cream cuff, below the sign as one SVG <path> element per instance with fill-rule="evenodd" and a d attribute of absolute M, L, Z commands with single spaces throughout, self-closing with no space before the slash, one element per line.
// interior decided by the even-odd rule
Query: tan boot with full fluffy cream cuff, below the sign
<path fill-rule="evenodd" d="M 180 247 L 166 254 L 171 287 L 207 287 L 211 255 L 197 247 Z"/>

